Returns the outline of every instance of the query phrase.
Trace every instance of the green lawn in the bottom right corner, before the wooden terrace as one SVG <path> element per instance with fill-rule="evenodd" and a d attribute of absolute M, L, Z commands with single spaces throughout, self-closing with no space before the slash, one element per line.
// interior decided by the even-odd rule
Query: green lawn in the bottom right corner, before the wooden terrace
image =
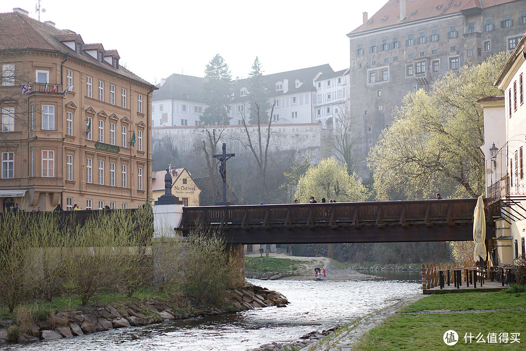
<path fill-rule="evenodd" d="M 481 313 L 444 313 L 446 311 L 502 309 L 526 307 L 526 292 L 466 292 L 431 295 L 404 307 L 379 327 L 372 329 L 353 350 L 522 350 L 526 343 L 526 310 L 505 310 Z M 426 312 L 426 314 L 417 314 Z M 458 343 L 448 346 L 444 333 L 454 330 Z M 470 341 L 470 333 L 473 337 Z M 508 333 L 504 343 L 501 333 Z M 511 343 L 512 333 L 520 333 L 520 344 Z M 485 343 L 478 338 L 479 334 Z M 467 343 L 464 336 L 467 335 Z M 489 337 L 489 339 L 488 339 Z M 493 339 L 494 338 L 494 339 Z M 479 340 L 479 343 L 477 343 Z M 491 342 L 489 342 L 491 341 Z"/>

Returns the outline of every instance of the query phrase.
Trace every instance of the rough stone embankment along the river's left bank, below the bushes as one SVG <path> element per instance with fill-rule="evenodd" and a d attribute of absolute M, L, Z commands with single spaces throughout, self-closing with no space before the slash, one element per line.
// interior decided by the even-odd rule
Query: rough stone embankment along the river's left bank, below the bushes
<path fill-rule="evenodd" d="M 257 307 L 285 307 L 287 298 L 274 290 L 248 286 L 228 290 L 224 302 L 234 309 L 195 310 L 191 306 L 181 308 L 180 303 L 167 299 L 148 299 L 138 303 L 105 306 L 83 306 L 76 311 L 52 314 L 46 320 L 34 324 L 18 325 L 13 320 L 0 320 L 0 342 L 8 340 L 27 342 L 73 337 L 101 332 L 103 330 L 160 323 L 174 319 L 186 319 L 200 315 L 218 315 Z M 14 330 L 18 333 L 15 334 Z"/>

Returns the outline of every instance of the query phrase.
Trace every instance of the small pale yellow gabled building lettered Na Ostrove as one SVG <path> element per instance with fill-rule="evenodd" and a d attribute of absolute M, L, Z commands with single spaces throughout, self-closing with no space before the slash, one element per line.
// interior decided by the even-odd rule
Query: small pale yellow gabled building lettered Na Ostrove
<path fill-rule="evenodd" d="M 199 195 L 201 189 L 197 187 L 192 176 L 186 168 L 170 169 L 172 183 L 171 194 L 175 195 L 183 202 L 184 206 L 199 206 Z M 151 174 L 154 200 L 165 193 L 164 177 L 165 171 L 153 172 Z M 153 204 L 154 202 L 152 202 Z"/>

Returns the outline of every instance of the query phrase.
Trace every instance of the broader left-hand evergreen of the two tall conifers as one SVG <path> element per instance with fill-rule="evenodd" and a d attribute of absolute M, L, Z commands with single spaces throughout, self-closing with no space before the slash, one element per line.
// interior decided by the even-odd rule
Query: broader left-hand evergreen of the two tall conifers
<path fill-rule="evenodd" d="M 229 106 L 232 95 L 232 76 L 228 65 L 217 54 L 205 69 L 201 98 L 208 105 L 200 119 L 205 125 L 230 123 Z"/>

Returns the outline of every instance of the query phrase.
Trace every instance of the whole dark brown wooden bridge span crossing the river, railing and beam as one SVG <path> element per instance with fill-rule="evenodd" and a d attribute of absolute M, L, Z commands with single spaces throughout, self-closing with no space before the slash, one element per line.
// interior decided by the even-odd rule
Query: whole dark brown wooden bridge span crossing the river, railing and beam
<path fill-rule="evenodd" d="M 218 230 L 231 244 L 463 241 L 473 239 L 476 204 L 468 198 L 184 207 L 177 230 Z M 493 221 L 486 225 L 491 237 Z"/>

